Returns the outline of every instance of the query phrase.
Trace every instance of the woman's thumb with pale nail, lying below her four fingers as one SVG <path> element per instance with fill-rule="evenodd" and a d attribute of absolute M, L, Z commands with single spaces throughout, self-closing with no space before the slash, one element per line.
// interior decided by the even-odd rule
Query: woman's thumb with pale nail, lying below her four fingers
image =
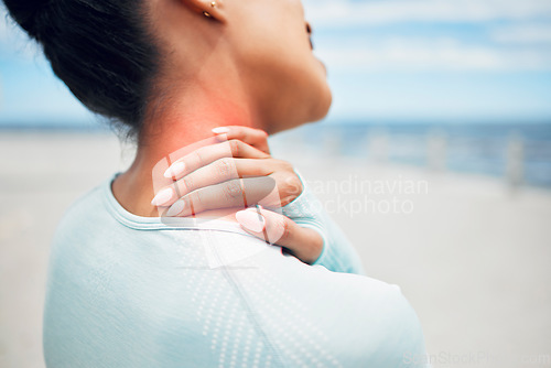
<path fill-rule="evenodd" d="M 287 216 L 256 207 L 237 212 L 236 219 L 247 232 L 285 248 L 303 262 L 313 263 L 322 253 L 322 236 Z"/>

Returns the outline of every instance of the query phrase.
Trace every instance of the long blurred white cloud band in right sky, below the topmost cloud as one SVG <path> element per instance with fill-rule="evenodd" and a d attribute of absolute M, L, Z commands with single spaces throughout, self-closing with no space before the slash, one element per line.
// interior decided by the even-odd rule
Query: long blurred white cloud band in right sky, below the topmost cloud
<path fill-rule="evenodd" d="M 357 45 L 361 44 L 361 47 Z M 551 50 L 469 45 L 453 39 L 389 37 L 327 45 L 317 52 L 331 68 L 357 72 L 551 71 Z"/>

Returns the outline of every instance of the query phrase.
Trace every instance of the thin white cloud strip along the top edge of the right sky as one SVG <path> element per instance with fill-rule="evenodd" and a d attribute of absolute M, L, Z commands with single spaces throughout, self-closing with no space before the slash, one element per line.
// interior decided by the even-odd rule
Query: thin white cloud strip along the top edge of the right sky
<path fill-rule="evenodd" d="M 487 22 L 551 19 L 550 0 L 309 0 L 306 17 L 317 26 L 399 22 Z"/>

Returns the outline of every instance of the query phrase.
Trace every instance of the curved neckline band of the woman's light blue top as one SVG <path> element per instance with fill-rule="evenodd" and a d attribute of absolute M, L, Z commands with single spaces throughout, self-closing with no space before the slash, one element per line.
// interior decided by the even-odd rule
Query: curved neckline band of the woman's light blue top
<path fill-rule="evenodd" d="M 111 184 L 120 173 L 116 173 L 101 185 L 108 212 L 122 225 L 136 230 L 222 230 L 251 236 L 238 224 L 222 219 L 191 217 L 143 217 L 128 212 L 115 198 Z"/>

